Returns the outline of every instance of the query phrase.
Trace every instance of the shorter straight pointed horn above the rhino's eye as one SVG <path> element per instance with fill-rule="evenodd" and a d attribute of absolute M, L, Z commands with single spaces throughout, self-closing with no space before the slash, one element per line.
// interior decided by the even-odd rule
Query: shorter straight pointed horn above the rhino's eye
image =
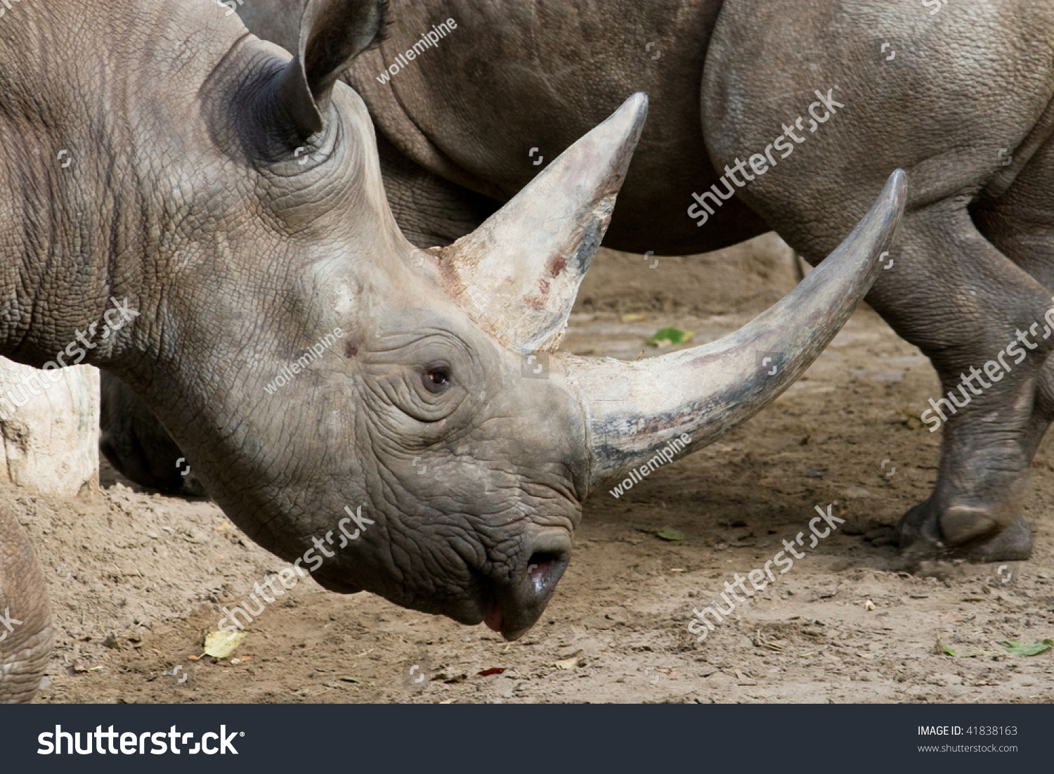
<path fill-rule="evenodd" d="M 440 253 L 444 287 L 515 351 L 555 349 L 611 220 L 648 98 L 627 99 L 480 228 Z"/>

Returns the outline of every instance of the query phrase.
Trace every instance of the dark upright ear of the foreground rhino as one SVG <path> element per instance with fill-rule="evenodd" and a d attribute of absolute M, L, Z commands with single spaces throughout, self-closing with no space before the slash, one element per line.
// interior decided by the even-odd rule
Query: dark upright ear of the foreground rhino
<path fill-rule="evenodd" d="M 307 139 L 324 127 L 333 85 L 347 64 L 384 27 L 387 0 L 310 0 L 300 19 L 294 57 L 274 81 L 280 122 Z"/>

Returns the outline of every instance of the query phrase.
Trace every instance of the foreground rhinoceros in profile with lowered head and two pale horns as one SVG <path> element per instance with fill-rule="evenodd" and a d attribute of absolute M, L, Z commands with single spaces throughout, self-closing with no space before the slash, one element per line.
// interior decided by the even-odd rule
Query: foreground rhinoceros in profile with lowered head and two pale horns
<path fill-rule="evenodd" d="M 337 78 L 384 8 L 311 0 L 292 55 L 212 0 L 0 15 L 0 354 L 120 378 L 253 540 L 297 567 L 318 552 L 324 587 L 511 639 L 592 488 L 672 439 L 711 442 L 819 354 L 881 271 L 906 178 L 741 330 L 637 363 L 561 354 L 647 97 L 627 91 L 471 233 L 417 249 Z M 0 642 L 0 699 L 18 699 L 47 646 L 44 587 L 17 524 L 0 529 L 0 602 L 25 626 Z"/>

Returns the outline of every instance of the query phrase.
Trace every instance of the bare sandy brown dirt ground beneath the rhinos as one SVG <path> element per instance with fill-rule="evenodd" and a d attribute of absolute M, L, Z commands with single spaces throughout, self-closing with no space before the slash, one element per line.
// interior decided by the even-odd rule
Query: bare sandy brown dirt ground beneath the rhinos
<path fill-rule="evenodd" d="M 655 269 L 602 251 L 565 349 L 647 356 L 666 326 L 715 338 L 793 287 L 793 260 L 772 235 Z M 910 575 L 890 543 L 934 482 L 939 433 L 917 415 L 937 391 L 925 359 L 861 309 L 750 422 L 619 499 L 596 492 L 547 612 L 513 643 L 307 580 L 234 657 L 194 660 L 220 605 L 280 560 L 208 500 L 143 492 L 109 469 L 80 500 L 0 489 L 51 582 L 56 651 L 37 700 L 1049 702 L 1054 650 L 1011 656 L 1002 642 L 1054 637 L 1051 439 L 1026 509 L 1031 561 Z M 835 501 L 846 523 L 697 643 L 692 607 Z M 659 538 L 663 527 L 683 540 Z"/>

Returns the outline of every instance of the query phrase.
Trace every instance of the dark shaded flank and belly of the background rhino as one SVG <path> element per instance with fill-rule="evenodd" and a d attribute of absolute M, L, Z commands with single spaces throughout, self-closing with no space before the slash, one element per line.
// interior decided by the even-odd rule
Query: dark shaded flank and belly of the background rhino
<path fill-rule="evenodd" d="M 692 191 L 717 181 L 699 94 L 718 0 L 392 5 L 387 39 L 354 62 L 348 81 L 378 129 L 422 166 L 506 200 L 627 96 L 646 92 L 648 121 L 605 244 L 701 251 L 765 230 L 745 207 L 725 208 L 711 229 L 684 214 Z M 435 47 L 378 82 L 448 19 L 456 27 Z"/>

